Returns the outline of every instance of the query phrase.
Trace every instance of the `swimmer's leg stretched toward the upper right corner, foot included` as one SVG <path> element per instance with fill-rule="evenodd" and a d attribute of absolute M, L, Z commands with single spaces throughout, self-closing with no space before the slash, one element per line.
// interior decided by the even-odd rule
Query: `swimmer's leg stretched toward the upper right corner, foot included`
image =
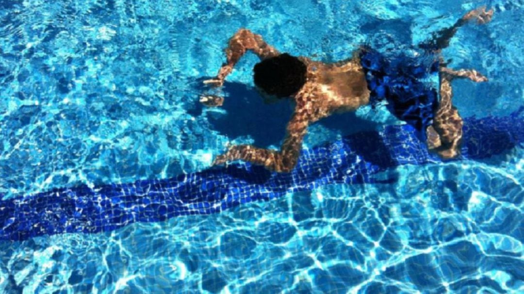
<path fill-rule="evenodd" d="M 420 48 L 432 51 L 439 51 L 446 48 L 450 44 L 451 38 L 455 35 L 457 30 L 465 25 L 468 21 L 476 20 L 477 24 L 486 24 L 491 21 L 493 17 L 493 9 L 486 11 L 486 7 L 480 7 L 466 13 L 461 19 L 457 20 L 450 28 L 445 28 L 432 34 L 432 39 L 428 42 L 420 44 Z"/>

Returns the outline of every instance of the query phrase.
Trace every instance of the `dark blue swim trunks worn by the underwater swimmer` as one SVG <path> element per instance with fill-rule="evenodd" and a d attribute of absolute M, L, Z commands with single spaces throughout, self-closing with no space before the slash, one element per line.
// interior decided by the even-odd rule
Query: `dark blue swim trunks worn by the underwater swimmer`
<path fill-rule="evenodd" d="M 365 48 L 359 56 L 371 92 L 370 104 L 385 102 L 395 117 L 417 129 L 425 140 L 425 129 L 439 106 L 439 61 L 433 54 L 415 54 Z"/>

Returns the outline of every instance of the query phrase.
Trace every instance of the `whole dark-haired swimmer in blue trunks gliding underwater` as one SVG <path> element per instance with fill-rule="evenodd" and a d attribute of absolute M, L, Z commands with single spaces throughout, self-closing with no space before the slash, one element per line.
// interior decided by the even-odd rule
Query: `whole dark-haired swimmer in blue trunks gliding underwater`
<path fill-rule="evenodd" d="M 386 107 L 398 119 L 412 125 L 430 150 L 443 159 L 459 155 L 463 121 L 452 105 L 451 81 L 460 77 L 484 82 L 487 78 L 475 70 L 448 69 L 442 62 L 441 50 L 466 22 L 476 20 L 478 24 L 485 24 L 492 16 L 493 9 L 472 10 L 454 26 L 435 33 L 431 41 L 421 44 L 419 47 L 425 52 L 418 56 L 402 52 L 389 56 L 362 47 L 351 59 L 335 63 L 280 53 L 260 35 L 247 29 L 237 31 L 226 49 L 227 62 L 216 78 L 204 83 L 222 86 L 242 55 L 252 50 L 261 59 L 254 67 L 254 82 L 260 92 L 278 98 L 290 97 L 296 105 L 279 151 L 234 145 L 213 163 L 243 160 L 271 171 L 290 172 L 298 162 L 302 140 L 311 123 L 335 111 L 354 111 L 381 101 L 386 101 Z M 439 76 L 439 93 L 422 82 L 433 74 Z M 220 106 L 222 99 L 202 96 L 200 101 L 208 106 Z"/>

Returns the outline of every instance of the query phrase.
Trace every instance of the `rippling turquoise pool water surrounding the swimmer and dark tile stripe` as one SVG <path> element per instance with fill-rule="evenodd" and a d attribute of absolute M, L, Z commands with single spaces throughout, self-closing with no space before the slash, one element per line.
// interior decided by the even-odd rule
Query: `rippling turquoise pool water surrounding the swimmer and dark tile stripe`
<path fill-rule="evenodd" d="M 199 105 L 238 28 L 335 61 L 362 43 L 414 46 L 482 5 L 493 21 L 461 28 L 443 55 L 489 82 L 454 81 L 453 101 L 475 126 L 509 117 L 518 127 L 521 0 L 0 1 L 0 203 L 201 175 L 228 142 L 279 146 L 291 105 L 263 104 L 255 55 L 228 77 L 222 108 Z M 363 107 L 312 126 L 304 146 L 386 136 L 386 125 L 401 128 L 384 107 Z M 220 213 L 3 237 L 0 292 L 521 292 L 524 151 L 494 130 L 483 150 L 505 147 L 489 156 L 388 165 L 378 180 L 288 187 Z"/>

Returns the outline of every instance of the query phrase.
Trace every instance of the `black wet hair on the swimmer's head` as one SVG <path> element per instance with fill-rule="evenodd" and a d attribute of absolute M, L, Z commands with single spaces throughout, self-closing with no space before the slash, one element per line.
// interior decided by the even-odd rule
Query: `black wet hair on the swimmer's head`
<path fill-rule="evenodd" d="M 279 98 L 297 93 L 305 84 L 307 66 L 298 58 L 283 53 L 255 65 L 255 85 Z"/>

